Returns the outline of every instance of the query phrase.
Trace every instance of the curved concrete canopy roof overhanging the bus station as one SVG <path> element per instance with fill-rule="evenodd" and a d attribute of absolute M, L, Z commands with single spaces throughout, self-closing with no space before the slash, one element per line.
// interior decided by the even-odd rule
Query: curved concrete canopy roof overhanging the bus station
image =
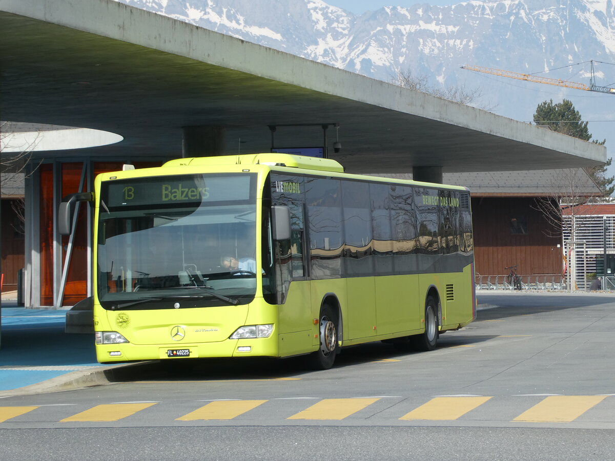
<path fill-rule="evenodd" d="M 268 125 L 338 123 L 352 172 L 572 168 L 603 146 L 304 60 L 113 0 L 0 0 L 0 117 L 117 133 L 38 157 L 181 157 L 182 127 L 225 128 L 226 151 L 267 152 Z M 276 146 L 320 146 L 319 126 Z"/>

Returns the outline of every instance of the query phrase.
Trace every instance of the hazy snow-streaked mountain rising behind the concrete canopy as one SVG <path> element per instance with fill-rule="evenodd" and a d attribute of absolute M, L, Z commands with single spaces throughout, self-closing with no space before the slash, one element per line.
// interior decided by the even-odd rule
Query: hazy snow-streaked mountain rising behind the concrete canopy
<path fill-rule="evenodd" d="M 544 100 L 568 98 L 594 138 L 613 132 L 615 98 L 478 74 L 487 66 L 589 84 L 615 82 L 615 0 L 472 0 L 383 7 L 355 15 L 321 0 L 117 0 L 311 60 L 392 81 L 480 88 L 494 112 L 531 121 Z M 581 64 L 582 63 L 582 64 Z M 551 69 L 549 73 L 542 73 Z M 557 69 L 557 70 L 556 70 Z M 615 138 L 613 138 L 615 143 Z M 554 165 L 557 167 L 557 165 Z"/>

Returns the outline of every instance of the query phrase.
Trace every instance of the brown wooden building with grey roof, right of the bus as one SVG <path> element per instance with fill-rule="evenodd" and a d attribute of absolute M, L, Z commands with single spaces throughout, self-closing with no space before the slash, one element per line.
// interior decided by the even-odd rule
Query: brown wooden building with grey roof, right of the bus
<path fill-rule="evenodd" d="M 582 170 L 573 170 L 576 194 L 600 194 Z M 491 171 L 451 173 L 444 181 L 469 187 L 474 221 L 474 257 L 477 275 L 517 274 L 532 280 L 561 278 L 564 268 L 561 226 L 555 227 L 537 200 L 569 194 L 571 170 Z"/>

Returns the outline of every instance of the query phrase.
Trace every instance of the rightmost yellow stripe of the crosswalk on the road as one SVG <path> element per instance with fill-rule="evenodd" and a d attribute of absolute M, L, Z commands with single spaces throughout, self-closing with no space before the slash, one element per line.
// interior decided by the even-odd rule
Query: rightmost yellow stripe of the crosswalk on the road
<path fill-rule="evenodd" d="M 517 416 L 513 421 L 570 422 L 605 398 L 606 395 L 549 396 Z"/>

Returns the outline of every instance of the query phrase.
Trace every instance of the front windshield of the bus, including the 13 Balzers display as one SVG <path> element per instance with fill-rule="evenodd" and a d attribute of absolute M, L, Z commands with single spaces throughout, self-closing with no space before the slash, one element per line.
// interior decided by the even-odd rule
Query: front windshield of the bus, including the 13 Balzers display
<path fill-rule="evenodd" d="M 96 259 L 101 305 L 173 309 L 250 302 L 260 273 L 255 197 L 252 173 L 103 183 Z"/>

